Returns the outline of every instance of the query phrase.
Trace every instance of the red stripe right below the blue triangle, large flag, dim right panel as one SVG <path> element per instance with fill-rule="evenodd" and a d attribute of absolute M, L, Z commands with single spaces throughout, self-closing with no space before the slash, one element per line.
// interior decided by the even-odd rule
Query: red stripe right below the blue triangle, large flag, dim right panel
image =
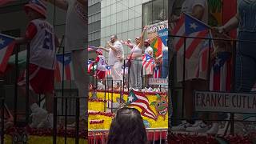
<path fill-rule="evenodd" d="M 191 55 L 194 53 L 194 50 L 198 48 L 198 44 L 202 42 L 202 38 L 205 38 L 208 34 L 208 30 L 203 30 L 198 33 L 196 37 L 194 38 L 193 42 L 191 42 L 190 46 L 186 49 L 186 58 L 190 58 Z"/>

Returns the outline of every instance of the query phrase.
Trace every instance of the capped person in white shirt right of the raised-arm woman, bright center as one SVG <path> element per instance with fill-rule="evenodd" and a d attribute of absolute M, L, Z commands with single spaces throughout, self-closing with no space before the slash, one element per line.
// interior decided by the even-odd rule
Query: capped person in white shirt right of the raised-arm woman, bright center
<path fill-rule="evenodd" d="M 150 39 L 146 39 L 144 41 L 144 46 L 146 47 L 145 49 L 145 54 L 149 54 L 151 57 L 153 57 L 153 49 L 150 46 Z M 149 79 L 153 78 L 153 70 L 143 70 L 143 76 L 144 76 L 144 82 L 145 82 L 145 87 L 148 88 L 147 90 L 153 90 L 150 85 L 149 85 Z"/>

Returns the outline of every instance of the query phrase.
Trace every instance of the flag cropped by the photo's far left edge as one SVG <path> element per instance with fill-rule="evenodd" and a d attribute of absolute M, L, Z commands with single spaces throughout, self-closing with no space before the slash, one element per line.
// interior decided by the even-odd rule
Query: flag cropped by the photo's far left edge
<path fill-rule="evenodd" d="M 0 34 L 0 72 L 6 70 L 10 55 L 13 53 L 15 46 L 14 38 L 5 34 Z"/>

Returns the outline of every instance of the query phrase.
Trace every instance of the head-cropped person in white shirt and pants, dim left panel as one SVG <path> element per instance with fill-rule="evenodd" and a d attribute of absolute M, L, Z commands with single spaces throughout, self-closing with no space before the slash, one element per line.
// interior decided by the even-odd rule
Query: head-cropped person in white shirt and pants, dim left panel
<path fill-rule="evenodd" d="M 65 30 L 65 51 L 71 52 L 74 69 L 74 82 L 78 87 L 78 97 L 80 98 L 80 130 L 86 129 L 87 121 L 87 98 L 86 89 L 88 75 L 84 69 L 84 62 L 87 56 L 87 0 L 47 0 L 55 4 L 58 8 L 66 10 L 66 30 Z M 75 122 L 68 125 L 69 129 L 74 129 Z"/>

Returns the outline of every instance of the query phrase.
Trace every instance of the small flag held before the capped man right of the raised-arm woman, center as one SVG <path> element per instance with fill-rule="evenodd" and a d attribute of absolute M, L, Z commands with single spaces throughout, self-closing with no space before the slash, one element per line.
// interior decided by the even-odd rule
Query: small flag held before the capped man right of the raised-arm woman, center
<path fill-rule="evenodd" d="M 144 74 L 153 74 L 154 58 L 152 58 L 149 54 L 144 54 L 142 57 L 142 67 Z"/>

